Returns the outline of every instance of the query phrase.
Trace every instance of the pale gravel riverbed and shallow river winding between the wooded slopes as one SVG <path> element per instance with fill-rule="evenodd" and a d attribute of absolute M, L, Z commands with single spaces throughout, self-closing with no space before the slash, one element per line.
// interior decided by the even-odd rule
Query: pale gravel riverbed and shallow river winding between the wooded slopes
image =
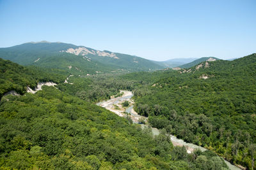
<path fill-rule="evenodd" d="M 108 101 L 102 101 L 100 103 L 97 103 L 97 105 L 102 106 L 103 108 L 106 108 L 107 110 L 113 111 L 114 113 L 116 113 L 116 115 L 118 115 L 120 117 L 126 117 L 127 115 L 129 115 L 129 117 L 131 117 L 132 122 L 134 124 L 138 124 L 140 122 L 139 120 L 147 120 L 147 117 L 138 115 L 138 113 L 136 113 L 136 111 L 133 110 L 134 101 L 132 101 L 132 99 L 131 99 L 133 96 L 132 92 L 125 91 L 125 90 L 120 90 L 120 92 L 124 93 L 123 96 L 115 97 L 115 98 L 109 99 Z M 127 109 L 123 108 L 122 103 L 124 103 L 124 101 L 129 101 L 131 106 L 129 106 L 129 108 L 127 108 Z M 141 128 L 144 128 L 145 126 L 146 125 L 141 124 Z M 158 135 L 159 129 L 152 128 L 152 133 L 154 135 Z M 170 135 L 170 139 L 173 143 L 173 146 L 185 146 L 188 153 L 193 152 L 197 148 L 200 149 L 202 152 L 207 150 L 207 149 L 203 148 L 202 146 L 194 145 L 193 143 L 186 143 L 182 139 L 178 139 L 178 138 L 176 138 L 176 136 L 173 136 L 173 135 Z M 230 162 L 228 162 L 227 160 L 225 160 L 225 162 L 231 170 L 240 170 L 239 167 L 236 167 L 236 166 L 230 164 Z"/>

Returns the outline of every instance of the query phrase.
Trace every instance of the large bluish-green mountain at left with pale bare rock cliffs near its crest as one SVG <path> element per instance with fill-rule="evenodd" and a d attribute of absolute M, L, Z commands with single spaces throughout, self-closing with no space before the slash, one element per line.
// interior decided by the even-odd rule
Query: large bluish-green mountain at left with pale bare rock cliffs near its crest
<path fill-rule="evenodd" d="M 0 57 L 22 65 L 59 68 L 77 74 L 117 70 L 150 71 L 162 68 L 150 60 L 133 55 L 47 41 L 0 48 Z"/>

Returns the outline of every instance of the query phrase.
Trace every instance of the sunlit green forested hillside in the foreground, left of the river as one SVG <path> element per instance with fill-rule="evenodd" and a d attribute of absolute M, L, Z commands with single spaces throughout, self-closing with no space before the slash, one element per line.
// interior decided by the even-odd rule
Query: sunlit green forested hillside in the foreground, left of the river
<path fill-rule="evenodd" d="M 36 83 L 31 69 L 1 62 L 3 83 L 12 78 L 21 87 Z M 4 97 L 0 122 L 1 169 L 227 168 L 213 152 L 188 154 L 172 145 L 166 131 L 153 137 L 150 129 L 142 131 L 140 125 L 54 87 Z"/>

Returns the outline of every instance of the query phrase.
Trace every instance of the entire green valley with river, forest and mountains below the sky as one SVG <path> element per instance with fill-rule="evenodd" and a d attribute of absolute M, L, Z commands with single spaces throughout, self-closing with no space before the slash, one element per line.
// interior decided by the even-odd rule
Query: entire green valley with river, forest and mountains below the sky
<path fill-rule="evenodd" d="M 40 55 L 34 59 L 31 49 L 41 49 Z M 19 50 L 33 63 L 0 60 L 0 146 L 6 168 L 51 169 L 64 157 L 72 168 L 81 161 L 89 169 L 134 169 L 137 162 L 141 169 L 254 166 L 255 53 L 232 61 L 203 57 L 189 67 L 163 69 L 131 55 L 64 43 L 28 43 Z M 19 61 L 19 50 L 0 49 L 0 55 L 8 51 L 6 58 Z M 52 131 L 57 134 L 51 136 Z M 20 166 L 13 154 L 31 163 Z M 40 155 L 49 166 L 40 164 Z"/>

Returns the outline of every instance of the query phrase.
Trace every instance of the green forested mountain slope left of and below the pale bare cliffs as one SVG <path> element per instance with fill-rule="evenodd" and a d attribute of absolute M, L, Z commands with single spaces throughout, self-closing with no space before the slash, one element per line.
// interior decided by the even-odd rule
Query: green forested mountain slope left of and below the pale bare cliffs
<path fill-rule="evenodd" d="M 77 75 L 97 74 L 97 72 L 113 71 L 120 68 L 89 61 L 72 53 L 60 52 L 62 49 L 72 47 L 76 46 L 65 43 L 25 43 L 10 48 L 0 48 L 0 57 L 24 66 L 61 69 Z"/>

